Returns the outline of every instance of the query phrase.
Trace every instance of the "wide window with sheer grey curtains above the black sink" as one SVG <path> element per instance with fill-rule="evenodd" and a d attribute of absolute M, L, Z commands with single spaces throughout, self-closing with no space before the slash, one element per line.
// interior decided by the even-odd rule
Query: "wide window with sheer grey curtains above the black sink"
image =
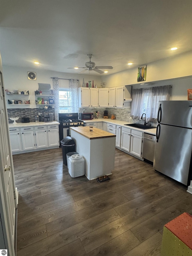
<path fill-rule="evenodd" d="M 169 101 L 171 86 L 157 86 L 132 90 L 131 117 L 140 119 L 146 113 L 146 119 L 157 121 L 159 101 Z"/>

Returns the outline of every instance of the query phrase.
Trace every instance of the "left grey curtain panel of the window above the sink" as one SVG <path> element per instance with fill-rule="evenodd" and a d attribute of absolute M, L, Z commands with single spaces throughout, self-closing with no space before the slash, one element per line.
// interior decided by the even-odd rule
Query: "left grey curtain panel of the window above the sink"
<path fill-rule="evenodd" d="M 131 117 L 134 119 L 140 118 L 140 103 L 142 96 L 142 88 L 141 89 L 132 89 L 131 92 Z"/>

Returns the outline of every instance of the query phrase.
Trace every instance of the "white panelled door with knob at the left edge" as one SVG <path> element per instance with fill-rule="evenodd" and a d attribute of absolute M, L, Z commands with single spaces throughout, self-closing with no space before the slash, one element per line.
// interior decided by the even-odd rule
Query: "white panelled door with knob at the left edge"
<path fill-rule="evenodd" d="M 7 113 L 4 107 L 2 77 L 0 72 L 0 214 L 1 221 L 5 224 L 4 239 L 9 250 L 9 255 L 14 253 L 15 234 L 15 199 L 12 172 L 12 156 L 10 155 L 10 141 L 7 129 Z M 11 158 L 11 159 L 10 159 Z M 2 248 L 3 249 L 3 248 Z"/>

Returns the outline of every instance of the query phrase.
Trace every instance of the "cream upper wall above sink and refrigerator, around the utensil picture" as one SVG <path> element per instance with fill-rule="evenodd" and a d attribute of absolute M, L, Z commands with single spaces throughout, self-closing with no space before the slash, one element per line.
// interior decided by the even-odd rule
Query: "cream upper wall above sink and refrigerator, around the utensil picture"
<path fill-rule="evenodd" d="M 145 63 L 147 64 L 147 63 Z M 137 83 L 138 68 L 130 68 L 102 77 L 106 87 L 134 85 Z M 192 51 L 147 64 L 146 82 L 192 76 Z"/>

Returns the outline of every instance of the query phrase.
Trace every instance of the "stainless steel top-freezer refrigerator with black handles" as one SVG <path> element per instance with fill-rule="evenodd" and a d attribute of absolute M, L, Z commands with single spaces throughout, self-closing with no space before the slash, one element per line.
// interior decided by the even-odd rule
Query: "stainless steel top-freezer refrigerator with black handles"
<path fill-rule="evenodd" d="M 192 101 L 159 101 L 153 168 L 190 184 Z"/>

